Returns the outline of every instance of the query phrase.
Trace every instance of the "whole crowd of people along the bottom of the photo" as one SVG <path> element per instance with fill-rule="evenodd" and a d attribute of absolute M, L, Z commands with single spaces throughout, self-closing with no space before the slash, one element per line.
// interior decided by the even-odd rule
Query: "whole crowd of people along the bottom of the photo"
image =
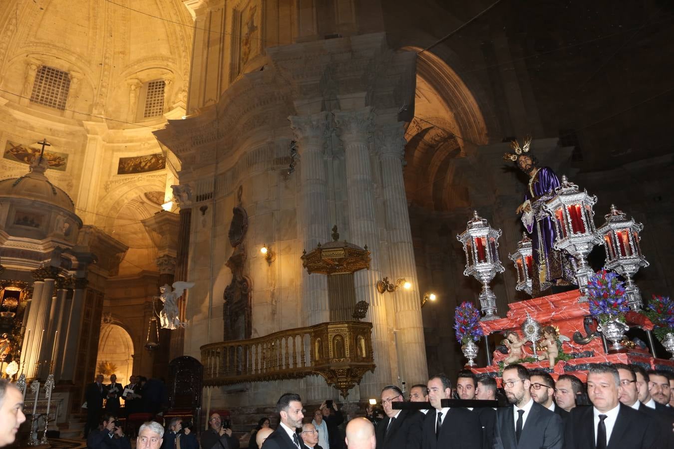
<path fill-rule="evenodd" d="M 136 385 L 137 391 L 143 391 L 143 385 L 134 380 L 138 379 L 134 376 L 131 388 L 121 388 L 111 379 L 106 394 L 111 399 L 119 393 L 121 397 L 126 393 L 127 401 L 141 399 L 131 396 Z M 92 384 L 99 393 L 96 398 L 102 395 L 101 381 L 98 376 Z M 673 396 L 671 372 L 640 365 L 592 365 L 584 385 L 571 374 L 555 381 L 545 370 L 512 364 L 503 369 L 501 388 L 495 378 L 476 376 L 470 370 L 458 373 L 456 386 L 444 374 L 432 376 L 427 384 L 412 386 L 407 398 L 398 386 L 385 386 L 380 402 L 384 417 L 369 408 L 367 418 L 346 423 L 345 434 L 339 427 L 344 414 L 336 403 L 326 401 L 309 414 L 299 394 L 286 393 L 276 404 L 278 427 L 272 429 L 267 417 L 260 419 L 248 447 L 344 449 L 346 443 L 347 449 L 674 448 Z M 443 399 L 466 402 L 443 407 Z M 119 399 L 112 402 L 119 411 Z M 407 404 L 396 405 L 403 402 Z M 22 407 L 20 390 L 0 381 L 0 447 L 15 440 L 26 420 Z M 100 425 L 88 434 L 88 448 L 131 448 L 117 414 L 106 406 Z M 197 439 L 193 424 L 181 418 L 172 419 L 166 429 L 149 421 L 138 431 L 136 448 L 239 449 L 239 439 L 230 427 L 219 413 L 212 413 L 208 430 Z"/>

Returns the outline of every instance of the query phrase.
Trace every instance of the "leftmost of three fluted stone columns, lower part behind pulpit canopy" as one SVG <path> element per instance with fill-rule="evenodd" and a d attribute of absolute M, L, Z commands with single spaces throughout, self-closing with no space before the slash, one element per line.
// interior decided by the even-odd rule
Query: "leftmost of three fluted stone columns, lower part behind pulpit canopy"
<path fill-rule="evenodd" d="M 328 112 L 309 116 L 290 116 L 290 127 L 297 136 L 300 156 L 299 172 L 302 192 L 304 249 L 310 252 L 317 244 L 330 242 L 328 223 L 328 180 L 326 177 L 325 143 Z M 303 325 L 330 321 L 328 279 L 302 270 Z"/>

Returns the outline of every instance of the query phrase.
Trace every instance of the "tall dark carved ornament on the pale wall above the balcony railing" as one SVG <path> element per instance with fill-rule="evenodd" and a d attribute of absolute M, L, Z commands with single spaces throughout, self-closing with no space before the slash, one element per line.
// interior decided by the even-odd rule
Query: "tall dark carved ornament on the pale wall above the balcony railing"
<path fill-rule="evenodd" d="M 239 205 L 232 211 L 232 223 L 229 227 L 229 243 L 234 253 L 225 263 L 232 271 L 232 281 L 225 287 L 222 304 L 222 320 L 224 325 L 224 340 L 249 339 L 253 333 L 251 325 L 251 279 L 243 274 L 243 267 L 247 258 L 243 239 L 248 230 L 248 214 L 241 207 L 239 187 L 237 194 Z"/>

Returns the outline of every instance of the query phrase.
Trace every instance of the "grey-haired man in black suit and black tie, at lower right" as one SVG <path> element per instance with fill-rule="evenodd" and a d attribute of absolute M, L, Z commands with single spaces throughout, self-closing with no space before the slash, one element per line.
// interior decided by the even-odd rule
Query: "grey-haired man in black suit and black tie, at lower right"
<path fill-rule="evenodd" d="M 568 449 L 655 449 L 658 429 L 650 418 L 619 401 L 620 376 L 613 366 L 588 370 L 588 396 L 593 407 L 577 407 L 566 422 Z"/>

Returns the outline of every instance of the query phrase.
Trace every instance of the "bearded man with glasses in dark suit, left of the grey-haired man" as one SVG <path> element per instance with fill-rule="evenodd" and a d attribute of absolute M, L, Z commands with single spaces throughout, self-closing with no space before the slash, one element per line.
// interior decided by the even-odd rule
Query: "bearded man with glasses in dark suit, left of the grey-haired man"
<path fill-rule="evenodd" d="M 528 370 L 522 365 L 508 365 L 501 380 L 505 396 L 513 406 L 496 411 L 493 448 L 561 449 L 564 443 L 561 417 L 531 399 Z"/>

